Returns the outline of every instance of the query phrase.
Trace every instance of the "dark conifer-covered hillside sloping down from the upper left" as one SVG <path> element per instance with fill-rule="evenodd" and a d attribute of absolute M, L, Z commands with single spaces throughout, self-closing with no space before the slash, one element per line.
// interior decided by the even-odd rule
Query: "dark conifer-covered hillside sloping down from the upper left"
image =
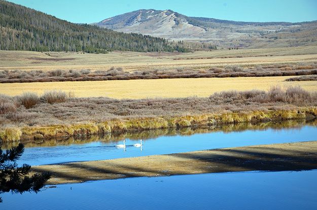
<path fill-rule="evenodd" d="M 188 51 L 181 43 L 136 33 L 122 33 L 54 16 L 0 0 L 0 50 L 153 52 Z"/>

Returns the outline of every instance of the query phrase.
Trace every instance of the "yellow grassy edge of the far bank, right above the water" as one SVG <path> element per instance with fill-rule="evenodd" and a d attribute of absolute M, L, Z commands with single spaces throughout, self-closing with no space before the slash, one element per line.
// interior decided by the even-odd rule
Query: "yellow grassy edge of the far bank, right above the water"
<path fill-rule="evenodd" d="M 7 127 L 0 131 L 0 139 L 4 142 L 21 140 L 41 140 L 53 137 L 89 136 L 93 134 L 124 133 L 163 128 L 186 128 L 199 126 L 225 125 L 235 123 L 257 123 L 296 119 L 315 119 L 315 107 L 294 110 L 253 111 L 240 113 L 187 115 L 179 117 L 152 117 L 124 120 L 110 120 L 100 123 L 73 125 L 51 125 L 41 127 Z"/>

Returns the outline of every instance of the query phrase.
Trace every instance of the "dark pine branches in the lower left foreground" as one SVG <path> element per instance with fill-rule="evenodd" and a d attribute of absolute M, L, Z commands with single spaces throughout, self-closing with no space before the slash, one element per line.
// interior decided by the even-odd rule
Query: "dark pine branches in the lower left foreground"
<path fill-rule="evenodd" d="M 39 192 L 51 174 L 48 172 L 35 173 L 32 176 L 27 176 L 31 166 L 23 164 L 18 166 L 18 160 L 24 152 L 23 144 L 3 152 L 0 147 L 0 193 L 4 192 Z M 2 198 L 0 197 L 0 202 Z"/>

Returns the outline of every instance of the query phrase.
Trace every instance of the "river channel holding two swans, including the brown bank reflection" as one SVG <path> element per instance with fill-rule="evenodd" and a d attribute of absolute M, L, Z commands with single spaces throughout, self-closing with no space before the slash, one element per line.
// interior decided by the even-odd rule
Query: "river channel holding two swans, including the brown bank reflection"
<path fill-rule="evenodd" d="M 315 141 L 316 122 L 236 124 L 222 127 L 163 129 L 115 133 L 89 138 L 50 139 L 26 143 L 18 164 L 53 164 L 160 155 L 226 147 Z M 249 129 L 246 129 L 249 128 Z M 126 148 L 115 147 L 126 139 Z M 144 139 L 142 150 L 133 147 Z"/>

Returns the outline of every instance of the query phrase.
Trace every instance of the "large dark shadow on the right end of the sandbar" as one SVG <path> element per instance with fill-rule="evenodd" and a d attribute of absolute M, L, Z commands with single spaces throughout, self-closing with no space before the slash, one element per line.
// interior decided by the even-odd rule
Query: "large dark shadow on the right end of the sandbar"
<path fill-rule="evenodd" d="M 261 148 L 259 148 L 261 149 Z M 215 152 L 223 152 L 221 149 Z M 317 168 L 317 154 L 296 150 L 281 150 L 265 148 L 266 152 L 253 152 L 230 149 L 225 155 L 196 155 L 173 154 L 172 156 L 186 158 L 188 161 L 198 160 L 205 163 L 225 165 L 218 172 L 234 171 L 234 168 L 248 170 L 283 171 L 283 170 L 310 170 Z M 280 154 L 284 151 L 288 154 Z M 209 172 L 217 172 L 210 170 Z"/>

